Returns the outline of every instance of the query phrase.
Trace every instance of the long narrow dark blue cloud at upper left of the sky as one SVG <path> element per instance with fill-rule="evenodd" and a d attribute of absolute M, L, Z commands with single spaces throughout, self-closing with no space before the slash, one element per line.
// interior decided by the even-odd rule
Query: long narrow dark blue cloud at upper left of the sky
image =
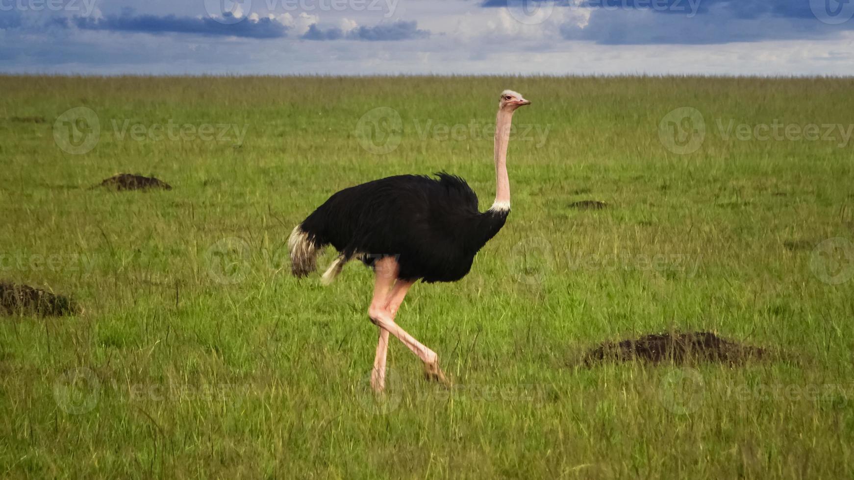
<path fill-rule="evenodd" d="M 192 33 L 196 35 L 244 38 L 282 38 L 288 27 L 278 21 L 261 18 L 244 19 L 226 25 L 210 17 L 176 15 L 116 15 L 102 19 L 72 17 L 55 19 L 60 26 L 76 26 L 81 30 L 142 33 Z"/>

